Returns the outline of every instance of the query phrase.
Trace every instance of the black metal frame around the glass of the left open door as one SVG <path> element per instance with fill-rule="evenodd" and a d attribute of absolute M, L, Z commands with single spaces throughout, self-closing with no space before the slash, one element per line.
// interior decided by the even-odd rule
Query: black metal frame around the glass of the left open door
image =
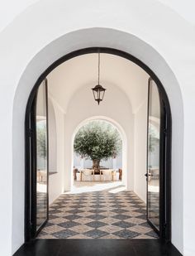
<path fill-rule="evenodd" d="M 48 99 L 47 80 L 45 82 L 45 103 L 46 103 L 46 133 L 47 147 L 49 145 L 48 133 Z M 49 151 L 47 148 L 47 216 L 39 229 L 36 230 L 36 102 L 39 86 L 31 92 L 29 109 L 26 109 L 25 138 L 26 138 L 26 203 L 25 205 L 25 239 L 35 239 L 49 219 Z M 28 114 L 27 114 L 28 113 Z M 27 182 L 28 181 L 28 182 Z"/>

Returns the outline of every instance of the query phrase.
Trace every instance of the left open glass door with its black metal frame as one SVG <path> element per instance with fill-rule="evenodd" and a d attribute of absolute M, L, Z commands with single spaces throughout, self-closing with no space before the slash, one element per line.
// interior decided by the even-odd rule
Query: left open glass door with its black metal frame
<path fill-rule="evenodd" d="M 28 178 L 31 187 L 26 239 L 36 238 L 48 220 L 48 110 L 47 81 L 44 80 L 34 94 L 27 118 L 28 126 Z"/>

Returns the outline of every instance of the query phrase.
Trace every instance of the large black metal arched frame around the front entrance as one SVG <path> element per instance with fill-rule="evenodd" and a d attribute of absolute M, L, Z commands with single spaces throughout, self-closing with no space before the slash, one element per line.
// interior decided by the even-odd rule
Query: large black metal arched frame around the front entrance
<path fill-rule="evenodd" d="M 148 75 L 150 75 L 151 79 L 155 81 L 159 89 L 159 97 L 161 106 L 164 105 L 164 109 L 161 108 L 161 111 L 166 111 L 166 140 L 164 143 L 161 144 L 161 147 L 165 148 L 161 149 L 160 154 L 163 154 L 162 160 L 160 162 L 161 169 L 161 179 L 160 179 L 160 186 L 161 186 L 161 196 L 160 201 L 164 205 L 160 210 L 161 214 L 161 226 L 162 226 L 162 233 L 160 234 L 160 239 L 170 240 L 171 237 L 171 127 L 172 127 L 172 118 L 171 118 L 171 110 L 169 105 L 168 96 L 164 90 L 164 86 L 160 82 L 159 78 L 155 73 L 150 70 L 150 67 L 145 65 L 141 60 L 137 59 L 135 56 L 132 56 L 125 51 L 107 48 L 107 47 L 89 47 L 80 49 L 78 51 L 70 52 L 69 54 L 62 56 L 59 60 L 56 60 L 52 65 L 50 65 L 38 78 L 36 84 L 34 85 L 30 97 L 28 99 L 28 103 L 26 106 L 26 122 L 25 122 L 25 134 L 26 134 L 26 144 L 25 144 L 25 152 L 26 152 L 26 191 L 25 191 L 25 240 L 29 241 L 32 239 L 31 237 L 31 220 L 30 220 L 30 209 L 31 209 L 31 168 L 33 167 L 33 157 L 30 159 L 29 153 L 31 151 L 30 143 L 29 143 L 29 117 L 31 115 L 31 107 L 33 104 L 33 99 L 35 98 L 36 90 L 40 86 L 41 82 L 45 80 L 45 77 L 50 74 L 52 70 L 54 70 L 58 65 L 64 63 L 66 60 L 70 60 L 77 56 L 82 56 L 85 54 L 90 53 L 107 53 L 116 56 L 121 56 L 127 60 L 131 60 L 136 65 L 139 65 L 140 68 L 145 70 Z M 164 114 L 161 114 L 162 118 Z M 163 129 L 163 128 L 162 128 Z M 164 133 L 164 130 L 161 132 Z M 164 146 L 163 146 L 164 145 Z M 164 153 L 163 153 L 164 152 Z"/>

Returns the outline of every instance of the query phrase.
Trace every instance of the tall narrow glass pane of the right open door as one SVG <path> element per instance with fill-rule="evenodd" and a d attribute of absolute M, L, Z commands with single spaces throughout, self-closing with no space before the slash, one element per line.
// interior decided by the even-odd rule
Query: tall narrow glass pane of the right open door
<path fill-rule="evenodd" d="M 159 231 L 159 155 L 160 101 L 157 85 L 149 82 L 148 102 L 148 161 L 147 161 L 147 219 Z"/>

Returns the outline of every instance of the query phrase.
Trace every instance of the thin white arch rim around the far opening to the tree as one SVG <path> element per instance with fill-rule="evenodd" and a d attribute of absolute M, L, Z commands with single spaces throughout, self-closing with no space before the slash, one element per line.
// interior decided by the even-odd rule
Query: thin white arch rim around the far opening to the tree
<path fill-rule="evenodd" d="M 81 123 L 78 124 L 78 126 L 76 128 L 74 128 L 74 133 L 72 135 L 72 145 L 74 145 L 74 138 L 75 135 L 78 133 L 78 130 L 80 128 L 83 127 L 83 125 L 87 124 L 90 121 L 93 120 L 102 120 L 105 121 L 107 123 L 111 123 L 113 125 L 114 128 L 117 128 L 118 133 L 120 134 L 121 140 L 122 140 L 122 184 L 124 186 L 127 186 L 127 175 L 126 175 L 126 171 L 127 171 L 127 138 L 126 138 L 126 133 L 124 131 L 124 129 L 121 127 L 120 123 L 117 123 L 116 120 L 109 118 L 107 116 L 92 116 L 90 118 L 86 118 L 85 120 L 83 120 Z M 74 166 L 74 148 L 72 146 L 71 148 L 71 152 L 72 152 L 72 167 Z M 71 176 L 71 187 L 73 186 L 73 176 Z"/>

